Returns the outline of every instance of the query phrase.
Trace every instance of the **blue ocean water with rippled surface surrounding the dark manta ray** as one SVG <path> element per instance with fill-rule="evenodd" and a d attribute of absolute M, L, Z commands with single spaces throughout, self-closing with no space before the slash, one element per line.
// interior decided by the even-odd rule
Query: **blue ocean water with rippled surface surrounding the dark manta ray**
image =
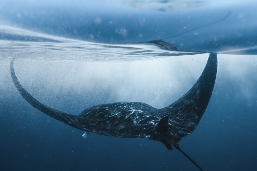
<path fill-rule="evenodd" d="M 1 170 L 199 170 L 178 150 L 65 125 L 28 104 L 77 115 L 113 102 L 165 107 L 218 53 L 213 95 L 178 143 L 204 170 L 255 170 L 255 1 L 3 1 L 0 6 Z"/>

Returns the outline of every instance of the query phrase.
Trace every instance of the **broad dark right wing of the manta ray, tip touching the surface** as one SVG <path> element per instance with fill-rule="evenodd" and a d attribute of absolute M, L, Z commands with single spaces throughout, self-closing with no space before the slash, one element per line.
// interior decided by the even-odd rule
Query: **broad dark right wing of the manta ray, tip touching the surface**
<path fill-rule="evenodd" d="M 171 105 L 162 108 L 169 116 L 168 128 L 175 137 L 191 134 L 209 103 L 217 73 L 217 54 L 210 53 L 207 64 L 194 86 Z M 163 116 L 163 117 L 165 117 Z"/>

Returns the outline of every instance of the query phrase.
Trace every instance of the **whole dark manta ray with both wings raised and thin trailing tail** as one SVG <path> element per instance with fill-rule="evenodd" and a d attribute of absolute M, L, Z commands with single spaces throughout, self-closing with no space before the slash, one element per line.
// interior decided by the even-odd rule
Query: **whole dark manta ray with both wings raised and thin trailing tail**
<path fill-rule="evenodd" d="M 210 53 L 206 66 L 194 86 L 171 105 L 157 109 L 141 102 L 116 102 L 90 107 L 79 115 L 70 115 L 40 103 L 20 84 L 15 71 L 14 59 L 10 71 L 13 83 L 22 97 L 39 111 L 62 123 L 88 133 L 124 137 L 149 138 L 160 141 L 169 150 L 172 146 L 182 152 L 178 142 L 191 134 L 200 122 L 213 92 L 217 73 L 217 54 Z"/>

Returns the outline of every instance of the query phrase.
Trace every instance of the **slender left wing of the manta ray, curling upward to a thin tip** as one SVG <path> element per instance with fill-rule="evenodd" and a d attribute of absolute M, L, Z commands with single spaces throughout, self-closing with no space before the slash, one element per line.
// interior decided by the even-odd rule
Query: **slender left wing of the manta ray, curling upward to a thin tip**
<path fill-rule="evenodd" d="M 40 103 L 38 100 L 36 100 L 34 97 L 32 97 L 21 85 L 21 83 L 19 82 L 15 71 L 14 71 L 14 67 L 13 67 L 13 63 L 14 63 L 14 59 L 15 57 L 12 59 L 11 65 L 10 65 L 10 70 L 11 70 L 11 76 L 13 79 L 13 83 L 15 84 L 17 90 L 20 92 L 20 94 L 22 95 L 22 97 L 33 107 L 35 107 L 36 109 L 38 109 L 39 111 L 47 114 L 48 116 L 53 117 L 54 119 L 57 119 L 59 121 L 61 121 L 62 123 L 65 123 L 67 125 L 70 125 L 72 127 L 81 129 L 80 127 L 77 127 L 76 125 L 78 125 L 77 123 L 79 122 L 79 117 L 75 116 L 75 115 L 69 115 L 67 113 L 52 109 L 50 107 L 47 107 L 45 105 L 43 105 L 42 103 Z"/>

